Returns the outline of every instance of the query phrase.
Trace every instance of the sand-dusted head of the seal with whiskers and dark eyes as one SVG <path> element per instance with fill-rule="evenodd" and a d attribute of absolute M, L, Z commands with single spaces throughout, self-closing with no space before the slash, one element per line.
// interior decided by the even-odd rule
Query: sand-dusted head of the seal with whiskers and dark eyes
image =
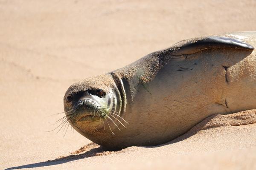
<path fill-rule="evenodd" d="M 103 131 L 104 122 L 111 120 L 111 115 L 120 113 L 121 108 L 122 99 L 111 74 L 76 82 L 64 96 L 67 119 L 89 139 L 96 131 Z"/>

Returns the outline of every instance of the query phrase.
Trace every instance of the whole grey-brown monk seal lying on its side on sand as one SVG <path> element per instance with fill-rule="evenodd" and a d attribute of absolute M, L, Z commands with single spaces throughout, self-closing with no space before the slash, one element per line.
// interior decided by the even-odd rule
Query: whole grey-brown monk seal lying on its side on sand
<path fill-rule="evenodd" d="M 68 88 L 75 130 L 104 147 L 163 144 L 212 114 L 256 108 L 256 32 L 183 40 Z"/>

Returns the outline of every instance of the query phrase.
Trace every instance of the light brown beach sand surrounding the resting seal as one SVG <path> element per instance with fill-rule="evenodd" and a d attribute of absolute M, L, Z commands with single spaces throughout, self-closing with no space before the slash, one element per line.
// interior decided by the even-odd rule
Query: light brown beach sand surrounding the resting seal
<path fill-rule="evenodd" d="M 214 117 L 220 127 L 205 122 L 172 144 L 45 162 L 90 143 L 46 132 L 73 82 L 186 38 L 256 30 L 255 20 L 254 0 L 0 0 L 0 169 L 256 168 L 255 111 L 243 113 L 248 125 Z"/>

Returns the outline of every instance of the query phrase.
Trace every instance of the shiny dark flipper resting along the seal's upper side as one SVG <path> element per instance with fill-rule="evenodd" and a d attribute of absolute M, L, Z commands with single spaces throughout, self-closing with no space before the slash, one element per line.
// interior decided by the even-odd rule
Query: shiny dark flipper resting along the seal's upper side
<path fill-rule="evenodd" d="M 234 48 L 241 50 L 253 50 L 253 46 L 229 37 L 203 37 L 199 39 L 185 40 L 174 45 L 172 56 L 194 54 L 211 48 Z M 170 49 L 170 48 L 169 48 Z M 166 49 L 168 51 L 168 49 Z M 166 52 L 167 52 L 166 51 Z"/>

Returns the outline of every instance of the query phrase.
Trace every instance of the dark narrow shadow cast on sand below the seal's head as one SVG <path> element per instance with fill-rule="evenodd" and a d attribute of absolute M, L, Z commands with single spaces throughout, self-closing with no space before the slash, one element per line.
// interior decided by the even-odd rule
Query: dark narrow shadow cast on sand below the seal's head
<path fill-rule="evenodd" d="M 64 157 L 61 157 L 61 158 L 58 158 L 55 160 L 48 160 L 48 161 L 38 162 L 38 163 L 34 163 L 34 164 L 26 164 L 26 165 L 21 165 L 21 166 L 17 166 L 17 167 L 9 167 L 6 170 L 35 168 L 35 167 L 47 167 L 47 166 L 52 166 L 52 165 L 57 165 L 57 164 L 63 164 L 63 163 L 70 162 L 70 161 L 76 161 L 79 159 L 97 156 L 97 154 L 105 152 L 105 151 L 109 151 L 109 150 L 106 150 L 105 148 L 99 146 L 97 148 L 90 149 L 87 152 L 81 153 L 78 155 L 69 155 L 69 156 L 64 156 Z"/>

